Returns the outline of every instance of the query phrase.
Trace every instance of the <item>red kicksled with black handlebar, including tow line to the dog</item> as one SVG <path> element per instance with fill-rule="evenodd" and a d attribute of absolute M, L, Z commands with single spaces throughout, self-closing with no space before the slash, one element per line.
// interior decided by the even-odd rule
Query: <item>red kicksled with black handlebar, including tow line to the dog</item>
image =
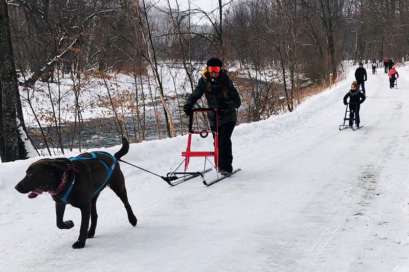
<path fill-rule="evenodd" d="M 215 131 L 212 130 L 194 130 L 193 129 L 193 121 L 194 121 L 194 113 L 195 112 L 213 112 L 214 116 L 215 116 L 215 123 L 214 123 L 214 127 L 216 128 Z M 202 138 L 206 138 L 209 133 L 214 134 L 214 150 L 212 151 L 191 151 L 191 143 L 192 143 L 192 135 L 193 134 L 199 134 L 200 137 Z M 192 114 L 189 116 L 189 135 L 188 135 L 188 145 L 186 147 L 186 151 L 181 153 L 182 157 L 185 157 L 185 159 L 176 167 L 176 169 L 174 171 L 168 172 L 168 174 L 166 175 L 166 177 L 160 176 L 155 174 L 154 172 L 148 171 L 144 168 L 141 168 L 137 165 L 133 165 L 129 162 L 120 160 L 126 164 L 129 164 L 133 167 L 136 167 L 138 169 L 144 170 L 146 172 L 149 172 L 152 175 L 155 175 L 157 177 L 162 178 L 164 181 L 166 181 L 170 186 L 175 186 L 178 185 L 180 183 L 183 183 L 185 181 L 191 180 L 193 178 L 196 177 L 200 177 L 203 181 L 203 184 L 205 184 L 206 186 L 210 186 L 213 185 L 225 178 L 228 178 L 232 175 L 234 175 L 236 172 L 240 171 L 241 168 L 237 168 L 235 170 L 233 170 L 231 173 L 226 174 L 226 175 L 220 175 L 218 172 L 218 160 L 219 160 L 219 156 L 218 156 L 218 123 L 217 123 L 217 109 L 211 109 L 211 108 L 196 108 L 196 109 L 192 109 Z M 203 167 L 202 171 L 197 171 L 197 172 L 188 172 L 187 168 L 189 165 L 189 161 L 191 157 L 205 157 L 205 165 Z M 209 157 L 213 157 L 214 158 L 214 164 L 212 163 L 212 161 L 209 159 Z M 206 168 L 206 162 L 209 162 L 212 167 Z M 184 171 L 177 171 L 180 166 L 185 163 L 184 165 Z M 216 170 L 216 178 L 211 180 L 211 181 L 206 181 L 205 179 L 205 174 L 207 172 L 210 172 L 212 169 Z"/>

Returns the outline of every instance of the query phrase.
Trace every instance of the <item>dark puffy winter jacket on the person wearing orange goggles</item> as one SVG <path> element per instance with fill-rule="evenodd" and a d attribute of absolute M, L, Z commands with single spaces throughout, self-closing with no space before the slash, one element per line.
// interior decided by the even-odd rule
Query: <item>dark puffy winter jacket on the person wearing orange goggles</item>
<path fill-rule="evenodd" d="M 205 68 L 205 70 L 203 70 L 203 76 L 199 79 L 195 90 L 189 95 L 188 99 L 186 100 L 186 104 L 193 106 L 200 99 L 200 97 L 205 94 L 209 108 L 218 109 L 224 102 L 229 104 L 229 109 L 227 109 L 224 114 L 218 114 L 217 121 L 219 126 L 225 122 L 237 122 L 236 109 L 240 107 L 241 100 L 232 80 L 224 71 L 220 72 L 220 75 L 216 81 L 211 81 L 209 79 L 209 72 L 207 71 L 207 68 Z M 210 82 L 212 86 L 210 91 L 207 89 L 208 82 Z M 228 97 L 223 96 L 222 86 L 226 88 Z M 209 113 L 209 119 L 210 124 L 213 125 L 213 113 Z"/>

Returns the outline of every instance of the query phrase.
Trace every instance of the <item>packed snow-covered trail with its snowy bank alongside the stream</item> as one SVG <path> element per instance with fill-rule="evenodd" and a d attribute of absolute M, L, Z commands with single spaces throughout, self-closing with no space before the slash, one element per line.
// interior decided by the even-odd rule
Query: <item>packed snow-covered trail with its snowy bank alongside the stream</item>
<path fill-rule="evenodd" d="M 240 125 L 233 150 L 242 171 L 211 187 L 200 179 L 169 187 L 122 164 L 138 227 L 106 189 L 96 236 L 82 250 L 71 249 L 79 210 L 67 208 L 65 220 L 76 225 L 58 230 L 51 197 L 29 200 L 13 189 L 36 159 L 1 164 L 0 270 L 404 271 L 407 71 L 399 69 L 399 89 L 392 90 L 381 70 L 368 75 L 357 131 L 338 131 L 353 71 L 293 113 Z M 124 159 L 164 174 L 185 145 L 186 137 L 132 144 Z"/>

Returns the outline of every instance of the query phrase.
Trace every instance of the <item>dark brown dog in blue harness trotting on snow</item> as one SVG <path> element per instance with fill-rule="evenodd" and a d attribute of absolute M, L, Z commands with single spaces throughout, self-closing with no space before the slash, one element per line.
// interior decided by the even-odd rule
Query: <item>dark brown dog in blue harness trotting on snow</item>
<path fill-rule="evenodd" d="M 28 193 L 30 198 L 42 192 L 49 192 L 55 204 L 57 227 L 71 229 L 74 222 L 63 221 L 65 205 L 81 210 L 81 228 L 78 240 L 73 244 L 74 249 L 85 246 L 86 238 L 93 238 L 97 227 L 96 203 L 99 193 L 109 186 L 122 203 L 128 213 L 128 220 L 132 226 L 137 225 L 137 217 L 132 212 L 126 194 L 125 180 L 119 167 L 120 158 L 128 153 L 129 143 L 122 138 L 121 150 L 111 156 L 106 152 L 83 153 L 75 158 L 41 159 L 32 163 L 15 189 L 20 193 Z M 91 226 L 88 230 L 89 217 Z"/>

